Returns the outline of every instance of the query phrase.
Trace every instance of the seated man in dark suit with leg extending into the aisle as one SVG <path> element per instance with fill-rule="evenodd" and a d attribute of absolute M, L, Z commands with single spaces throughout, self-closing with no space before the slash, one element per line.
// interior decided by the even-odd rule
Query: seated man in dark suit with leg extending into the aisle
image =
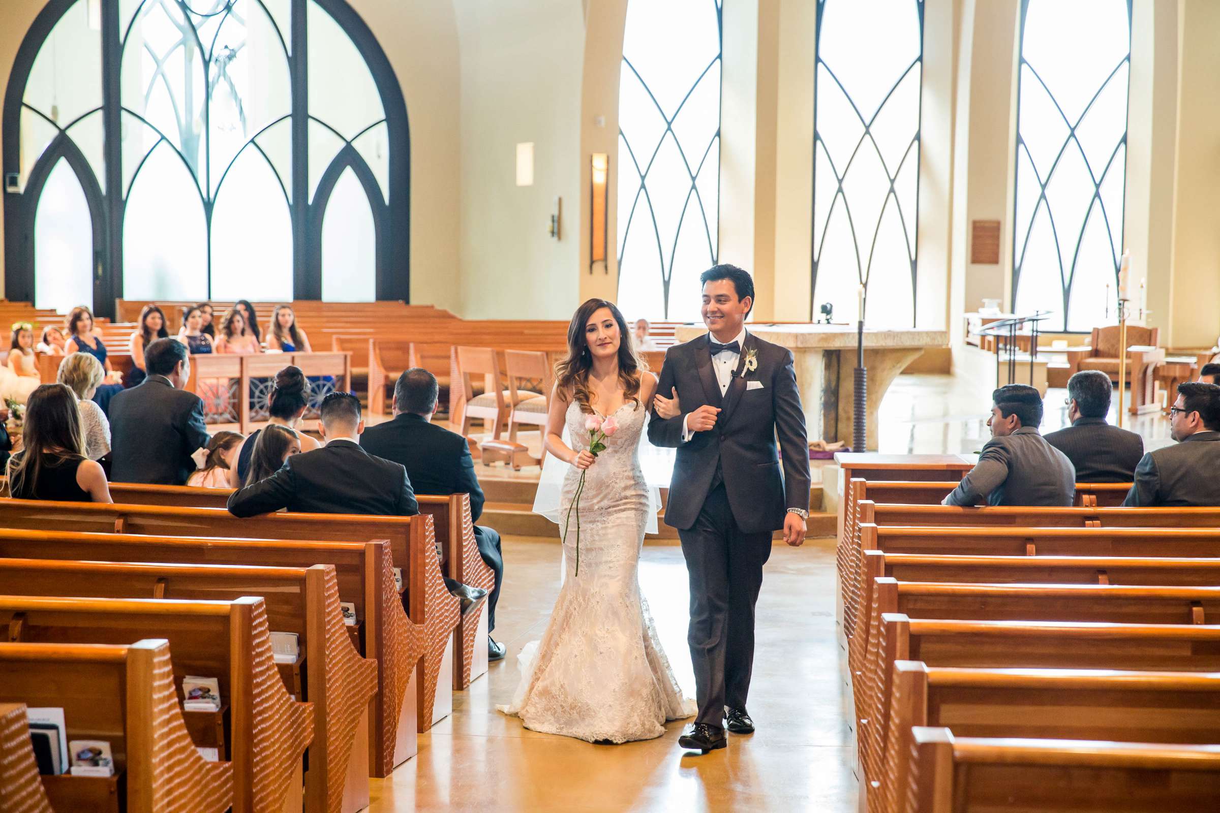
<path fill-rule="evenodd" d="M 475 461 L 466 439 L 432 423 L 437 411 L 437 377 L 415 367 L 398 377 L 394 384 L 394 419 L 370 427 L 360 435 L 360 445 L 371 455 L 401 463 L 416 494 L 468 494 L 470 516 L 478 522 L 483 512 L 483 489 L 475 477 Z M 495 574 L 495 585 L 487 600 L 487 630 L 495 629 L 495 602 L 504 580 L 500 535 L 484 525 L 475 525 L 475 541 L 487 567 Z M 504 645 L 490 635 L 487 657 L 499 661 Z"/>

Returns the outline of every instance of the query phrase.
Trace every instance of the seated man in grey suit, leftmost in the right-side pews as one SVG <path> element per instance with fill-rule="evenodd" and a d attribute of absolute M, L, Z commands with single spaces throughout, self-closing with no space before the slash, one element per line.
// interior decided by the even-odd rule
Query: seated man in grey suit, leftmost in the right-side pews
<path fill-rule="evenodd" d="M 978 463 L 961 478 L 942 505 L 1070 506 L 1076 496 L 1076 469 L 1061 451 L 1038 434 L 1042 396 L 1026 384 L 992 392 L 992 439 Z"/>

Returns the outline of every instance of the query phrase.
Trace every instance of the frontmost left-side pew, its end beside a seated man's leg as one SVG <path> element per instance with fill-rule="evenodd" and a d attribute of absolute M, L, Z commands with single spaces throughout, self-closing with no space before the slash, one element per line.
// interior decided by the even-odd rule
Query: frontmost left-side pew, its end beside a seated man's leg
<path fill-rule="evenodd" d="M 116 502 L 196 508 L 223 508 L 231 489 L 200 489 L 185 485 L 145 485 L 111 483 Z M 490 590 L 495 574 L 483 562 L 475 541 L 475 523 L 470 514 L 470 495 L 433 496 L 417 494 L 420 513 L 432 517 L 443 550 L 442 572 L 450 579 Z M 479 605 L 460 618 L 454 631 L 454 689 L 461 691 L 471 680 L 487 673 L 487 607 Z"/>

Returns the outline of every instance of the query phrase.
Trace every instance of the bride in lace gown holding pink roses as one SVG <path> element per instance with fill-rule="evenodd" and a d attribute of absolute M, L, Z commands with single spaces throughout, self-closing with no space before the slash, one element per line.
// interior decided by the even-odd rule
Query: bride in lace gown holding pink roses
<path fill-rule="evenodd" d="M 569 356 L 556 371 L 545 446 L 570 464 L 560 525 L 586 473 L 578 508 L 580 575 L 573 509 L 564 542 L 564 586 L 550 624 L 540 644 L 522 651 L 521 684 L 512 702 L 498 708 L 534 731 L 589 742 L 650 740 L 665 731 L 667 720 L 695 712 L 678 690 L 639 592 L 639 550 L 656 506 L 638 449 L 656 377 L 640 369 L 622 313 L 605 300 L 590 299 L 576 311 L 567 346 Z M 592 416 L 617 424 L 597 456 L 586 429 Z"/>

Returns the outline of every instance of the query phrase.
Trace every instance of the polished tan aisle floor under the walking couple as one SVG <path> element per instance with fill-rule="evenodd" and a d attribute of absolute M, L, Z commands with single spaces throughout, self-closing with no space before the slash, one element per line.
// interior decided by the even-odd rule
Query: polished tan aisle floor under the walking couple
<path fill-rule="evenodd" d="M 420 737 L 420 753 L 372 780 L 371 813 L 390 811 L 820 811 L 855 809 L 853 748 L 834 634 L 833 540 L 772 547 L 758 603 L 749 703 L 759 725 L 725 751 L 683 757 L 683 723 L 647 742 L 594 746 L 537 734 L 495 712 L 517 684 L 516 656 L 545 629 L 560 585 L 550 539 L 504 540 L 505 585 L 492 664 L 454 713 Z M 694 695 L 686 646 L 682 551 L 644 547 L 640 586 L 678 683 Z"/>

